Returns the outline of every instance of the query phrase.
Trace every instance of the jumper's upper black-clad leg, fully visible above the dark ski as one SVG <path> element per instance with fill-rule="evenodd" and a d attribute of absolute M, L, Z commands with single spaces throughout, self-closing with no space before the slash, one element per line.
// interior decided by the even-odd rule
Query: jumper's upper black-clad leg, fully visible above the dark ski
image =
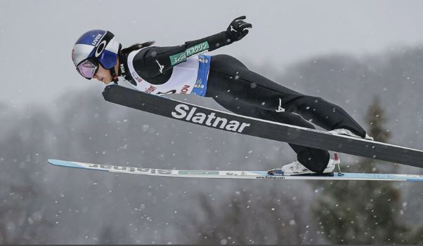
<path fill-rule="evenodd" d="M 346 128 L 360 137 L 365 130 L 341 107 L 320 97 L 302 95 L 254 73 L 229 55 L 211 57 L 207 95 L 234 99 L 270 111 L 300 114 L 326 130 Z"/>

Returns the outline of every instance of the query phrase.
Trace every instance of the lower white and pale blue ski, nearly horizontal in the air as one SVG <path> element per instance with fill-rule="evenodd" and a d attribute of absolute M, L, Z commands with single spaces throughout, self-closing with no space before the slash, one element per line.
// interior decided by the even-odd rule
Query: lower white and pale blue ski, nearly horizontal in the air
<path fill-rule="evenodd" d="M 103 165 L 95 163 L 81 163 L 76 161 L 49 159 L 48 163 L 67 168 L 82 168 L 105 172 L 118 172 L 134 175 L 150 175 L 160 177 L 188 177 L 208 179 L 300 179 L 300 180 L 379 180 L 379 181 L 423 181 L 423 175 L 376 174 L 336 172 L 323 175 L 269 175 L 268 171 L 233 171 L 233 170 L 167 170 L 156 168 L 134 168 L 120 165 Z"/>

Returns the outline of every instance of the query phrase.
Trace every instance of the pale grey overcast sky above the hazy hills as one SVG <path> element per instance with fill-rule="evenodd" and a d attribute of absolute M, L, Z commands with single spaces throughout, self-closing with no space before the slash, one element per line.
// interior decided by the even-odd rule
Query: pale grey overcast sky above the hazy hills
<path fill-rule="evenodd" d="M 221 32 L 247 15 L 253 29 L 214 51 L 284 69 L 313 55 L 364 55 L 423 43 L 423 1 L 16 1 L 0 0 L 0 103 L 51 102 L 67 90 L 99 90 L 74 70 L 70 53 L 89 29 L 124 46 L 174 46 Z M 249 63 L 251 64 L 251 63 Z M 254 70 L 254 67 L 250 68 Z"/>

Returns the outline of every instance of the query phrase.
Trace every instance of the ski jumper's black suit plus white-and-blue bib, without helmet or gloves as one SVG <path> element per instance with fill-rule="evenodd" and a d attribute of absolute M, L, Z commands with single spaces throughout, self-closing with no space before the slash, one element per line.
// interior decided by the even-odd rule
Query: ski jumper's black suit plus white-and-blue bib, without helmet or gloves
<path fill-rule="evenodd" d="M 325 130 L 346 128 L 365 137 L 365 130 L 335 104 L 285 88 L 229 55 L 199 55 L 232 42 L 226 32 L 221 32 L 181 46 L 134 50 L 121 55 L 119 75 L 145 93 L 211 97 L 235 114 L 312 129 L 312 123 Z M 328 151 L 289 146 L 306 168 L 313 172 L 325 170 L 330 159 Z"/>

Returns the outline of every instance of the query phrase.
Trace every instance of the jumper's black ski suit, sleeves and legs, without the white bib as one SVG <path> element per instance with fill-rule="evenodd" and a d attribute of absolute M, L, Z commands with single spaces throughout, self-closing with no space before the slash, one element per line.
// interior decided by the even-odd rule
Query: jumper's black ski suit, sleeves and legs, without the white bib
<path fill-rule="evenodd" d="M 174 64 L 169 57 L 182 53 L 200 43 L 209 44 L 208 51 L 226 46 L 233 41 L 227 32 L 221 32 L 204 39 L 188 41 L 182 46 L 143 48 L 134 57 L 133 66 L 145 81 L 153 85 L 166 83 L 172 74 Z M 120 76 L 131 83 L 136 80 L 128 71 L 128 54 L 121 54 Z M 160 71 L 157 63 L 164 67 Z M 324 128 L 334 130 L 346 128 L 360 137 L 365 130 L 341 107 L 331 104 L 320 97 L 297 93 L 256 74 L 242 62 L 229 55 L 211 56 L 206 97 L 213 98 L 222 107 L 235 114 L 276 121 L 305 128 L 315 128 L 310 121 Z M 305 146 L 289 144 L 297 153 L 297 160 L 313 172 L 323 172 L 330 159 L 329 152 Z"/>

